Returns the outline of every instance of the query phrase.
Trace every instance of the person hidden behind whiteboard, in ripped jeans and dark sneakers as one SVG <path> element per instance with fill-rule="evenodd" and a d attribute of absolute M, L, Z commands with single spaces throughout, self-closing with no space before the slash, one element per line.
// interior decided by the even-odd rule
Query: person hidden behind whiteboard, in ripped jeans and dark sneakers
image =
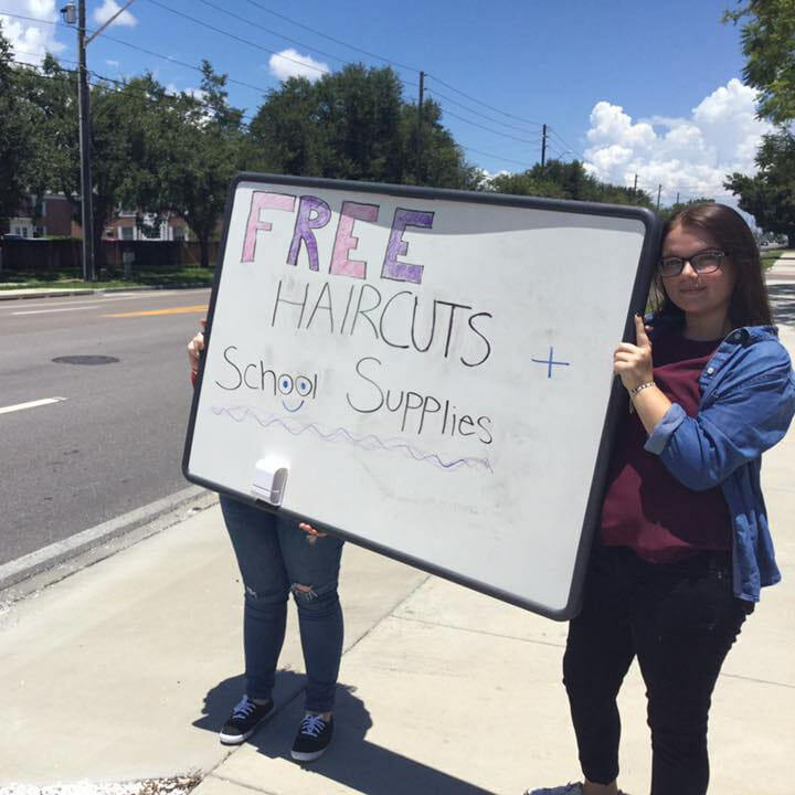
<path fill-rule="evenodd" d="M 204 325 L 204 321 L 202 321 Z M 188 346 L 195 383 L 204 335 Z M 287 597 L 298 608 L 307 674 L 304 718 L 292 749 L 301 762 L 317 759 L 333 732 L 333 702 L 342 655 L 342 608 L 337 595 L 342 540 L 220 496 L 221 511 L 243 579 L 243 649 L 246 691 L 220 740 L 245 742 L 275 711 L 272 691 L 285 637 Z"/>

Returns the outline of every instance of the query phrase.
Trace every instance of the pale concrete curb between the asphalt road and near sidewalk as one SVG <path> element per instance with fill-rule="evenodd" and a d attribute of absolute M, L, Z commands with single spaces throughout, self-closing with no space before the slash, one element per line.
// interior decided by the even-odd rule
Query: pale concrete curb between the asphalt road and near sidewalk
<path fill-rule="evenodd" d="M 216 501 L 214 491 L 190 486 L 4 563 L 0 565 L 0 602 L 15 602 L 33 591 L 64 580 L 87 565 L 179 523 L 190 513 L 210 508 Z M 14 590 L 10 591 L 12 587 Z"/>

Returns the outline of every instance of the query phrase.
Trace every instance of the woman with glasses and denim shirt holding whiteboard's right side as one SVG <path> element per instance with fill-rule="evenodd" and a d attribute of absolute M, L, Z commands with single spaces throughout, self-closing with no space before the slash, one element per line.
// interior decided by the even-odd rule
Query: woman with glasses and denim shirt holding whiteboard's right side
<path fill-rule="evenodd" d="M 613 369 L 629 395 L 611 460 L 563 681 L 582 784 L 534 795 L 618 793 L 616 696 L 637 657 L 651 729 L 651 794 L 703 795 L 707 721 L 729 648 L 781 575 L 760 489 L 761 455 L 795 411 L 742 216 L 695 204 L 666 224 L 659 306 L 635 321 Z"/>

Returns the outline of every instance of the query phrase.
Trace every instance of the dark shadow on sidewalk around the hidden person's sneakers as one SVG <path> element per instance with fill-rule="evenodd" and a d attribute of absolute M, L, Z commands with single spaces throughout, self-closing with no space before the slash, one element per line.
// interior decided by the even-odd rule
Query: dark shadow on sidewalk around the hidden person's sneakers
<path fill-rule="evenodd" d="M 220 731 L 232 707 L 245 689 L 245 679 L 237 676 L 225 679 L 212 688 L 204 701 L 204 712 L 193 725 L 209 731 Z M 288 703 L 304 689 L 304 676 L 293 671 L 277 671 L 274 698 L 279 713 L 295 712 L 295 729 L 303 711 L 300 706 Z M 469 784 L 462 778 L 415 762 L 400 753 L 369 742 L 368 730 L 372 728 L 370 712 L 364 702 L 353 693 L 356 688 L 339 685 L 335 707 L 335 738 L 329 752 L 306 765 L 318 776 L 336 781 L 368 795 L 405 795 L 405 793 L 433 793 L 434 795 L 494 795 L 491 791 Z M 409 706 L 405 707 L 409 709 Z M 280 714 L 275 719 L 278 720 Z M 466 728 L 463 728 L 466 731 Z M 248 744 L 271 759 L 289 760 L 290 734 L 268 731 L 257 732 Z M 439 739 L 439 742 L 443 742 Z M 290 760 L 292 762 L 292 760 Z M 294 763 L 295 764 L 295 763 Z M 319 787 L 322 791 L 322 785 Z"/>

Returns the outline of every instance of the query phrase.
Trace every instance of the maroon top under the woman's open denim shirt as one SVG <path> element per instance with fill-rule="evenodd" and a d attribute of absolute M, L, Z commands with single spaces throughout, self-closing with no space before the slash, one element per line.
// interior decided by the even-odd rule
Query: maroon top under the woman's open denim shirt
<path fill-rule="evenodd" d="M 699 377 L 720 340 L 697 342 L 678 332 L 654 342 L 654 380 L 671 403 L 696 416 Z M 731 549 L 731 520 L 720 487 L 692 491 L 643 446 L 647 434 L 637 414 L 625 414 L 611 459 L 602 507 L 605 547 L 629 547 L 651 563 L 669 563 L 703 550 Z"/>

